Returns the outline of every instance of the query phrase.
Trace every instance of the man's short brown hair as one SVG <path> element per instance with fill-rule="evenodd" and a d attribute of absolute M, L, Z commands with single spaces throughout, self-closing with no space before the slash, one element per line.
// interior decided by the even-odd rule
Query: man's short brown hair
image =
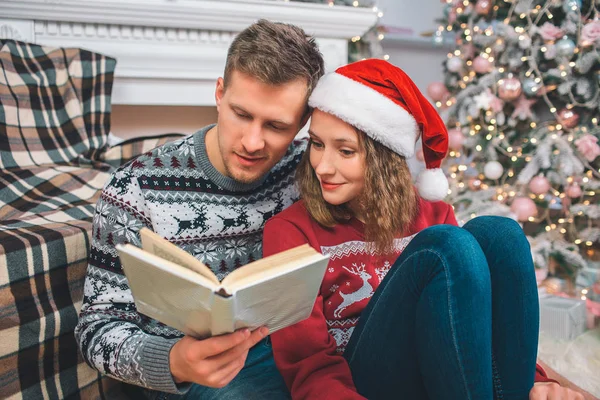
<path fill-rule="evenodd" d="M 225 88 L 234 70 L 269 85 L 305 79 L 308 98 L 324 73 L 324 62 L 315 39 L 304 30 L 261 19 L 241 31 L 229 47 Z"/>

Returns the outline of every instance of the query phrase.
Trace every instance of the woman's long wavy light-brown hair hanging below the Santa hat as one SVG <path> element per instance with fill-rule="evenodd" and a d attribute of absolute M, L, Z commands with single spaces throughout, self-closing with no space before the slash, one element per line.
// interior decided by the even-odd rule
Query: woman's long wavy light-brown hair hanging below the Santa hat
<path fill-rule="evenodd" d="M 359 198 L 365 222 L 365 240 L 372 242 L 378 254 L 393 250 L 394 238 L 407 232 L 417 215 L 418 194 L 406 159 L 356 130 L 359 145 L 365 151 L 365 186 Z M 306 150 L 298 170 L 300 196 L 309 214 L 322 226 L 333 227 L 353 216 L 347 204 L 331 205 L 323 199 L 321 185 L 310 165 Z"/>

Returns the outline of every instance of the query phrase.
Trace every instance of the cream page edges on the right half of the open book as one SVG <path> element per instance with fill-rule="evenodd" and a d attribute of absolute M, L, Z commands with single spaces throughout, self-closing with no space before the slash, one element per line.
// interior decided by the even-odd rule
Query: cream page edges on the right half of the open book
<path fill-rule="evenodd" d="M 221 283 L 231 294 L 241 287 L 279 275 L 286 270 L 295 269 L 298 264 L 306 264 L 306 260 L 315 255 L 323 257 L 310 245 L 303 244 L 244 265 L 227 275 Z"/>

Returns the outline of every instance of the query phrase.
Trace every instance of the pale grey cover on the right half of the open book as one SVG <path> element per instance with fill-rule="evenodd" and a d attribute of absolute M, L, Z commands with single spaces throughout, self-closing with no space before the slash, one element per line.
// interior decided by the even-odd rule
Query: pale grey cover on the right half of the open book
<path fill-rule="evenodd" d="M 266 326 L 271 333 L 308 318 L 329 257 L 314 255 L 295 269 L 235 291 L 235 329 Z"/>

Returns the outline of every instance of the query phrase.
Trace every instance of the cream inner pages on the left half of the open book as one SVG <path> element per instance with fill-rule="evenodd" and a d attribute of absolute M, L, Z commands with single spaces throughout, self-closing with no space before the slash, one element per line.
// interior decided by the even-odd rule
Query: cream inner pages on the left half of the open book
<path fill-rule="evenodd" d="M 148 228 L 140 229 L 140 237 L 142 238 L 144 251 L 196 271 L 205 278 L 210 279 L 215 285 L 219 285 L 219 279 L 211 269 L 187 251 L 180 249 Z"/>

